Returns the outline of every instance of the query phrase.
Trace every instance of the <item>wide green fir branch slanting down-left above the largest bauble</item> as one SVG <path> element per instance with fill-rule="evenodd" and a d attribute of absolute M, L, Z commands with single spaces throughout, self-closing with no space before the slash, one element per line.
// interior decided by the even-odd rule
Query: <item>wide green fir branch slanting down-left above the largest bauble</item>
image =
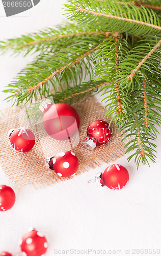
<path fill-rule="evenodd" d="M 72 46 L 61 49 L 57 53 L 51 51 L 48 54 L 39 55 L 29 68 L 23 69 L 18 74 L 18 80 L 9 85 L 11 89 L 4 92 L 12 93 L 8 99 L 15 98 L 19 104 L 24 99 L 28 101 L 35 98 L 36 100 L 38 95 L 38 97 L 46 97 L 50 86 L 53 86 L 56 92 L 58 85 L 61 87 L 61 84 L 65 83 L 68 89 L 81 83 L 87 74 L 92 79 L 93 54 L 98 51 L 102 40 L 110 41 L 114 35 L 105 32 L 104 35 L 90 35 L 90 38 L 84 36 L 82 41 L 75 38 Z"/>

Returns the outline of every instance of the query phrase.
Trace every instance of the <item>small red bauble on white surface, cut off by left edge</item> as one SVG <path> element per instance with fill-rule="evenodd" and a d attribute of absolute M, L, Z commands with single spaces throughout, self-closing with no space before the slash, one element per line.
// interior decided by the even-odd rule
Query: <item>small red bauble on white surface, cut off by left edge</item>
<path fill-rule="evenodd" d="M 16 196 L 13 189 L 6 185 L 0 185 L 0 210 L 9 210 L 14 205 L 15 200 Z"/>

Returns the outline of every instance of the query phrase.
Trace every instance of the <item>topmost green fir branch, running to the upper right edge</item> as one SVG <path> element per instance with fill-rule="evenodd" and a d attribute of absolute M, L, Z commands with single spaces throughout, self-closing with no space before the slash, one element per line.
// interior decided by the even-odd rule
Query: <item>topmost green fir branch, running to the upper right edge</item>
<path fill-rule="evenodd" d="M 95 26 L 101 30 L 118 31 L 133 35 L 160 33 L 159 18 L 152 10 L 145 7 L 119 5 L 116 1 L 69 0 L 66 5 L 71 20 Z M 152 18 L 149 18 L 152 17 Z"/>

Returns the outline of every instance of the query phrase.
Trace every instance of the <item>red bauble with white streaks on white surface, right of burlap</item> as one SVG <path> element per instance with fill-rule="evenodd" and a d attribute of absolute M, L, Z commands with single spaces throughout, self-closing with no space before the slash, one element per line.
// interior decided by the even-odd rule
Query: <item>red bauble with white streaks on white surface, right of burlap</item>
<path fill-rule="evenodd" d="M 100 183 L 117 190 L 123 188 L 129 181 L 128 170 L 120 164 L 112 164 L 100 175 Z"/>

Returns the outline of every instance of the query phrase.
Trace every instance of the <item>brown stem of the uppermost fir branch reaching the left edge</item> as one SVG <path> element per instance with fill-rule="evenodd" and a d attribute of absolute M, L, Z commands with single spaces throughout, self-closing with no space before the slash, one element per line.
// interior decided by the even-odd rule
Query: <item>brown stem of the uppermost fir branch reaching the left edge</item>
<path fill-rule="evenodd" d="M 66 35 L 59 35 L 59 36 L 52 36 L 52 37 L 48 37 L 48 38 L 42 38 L 42 39 L 39 39 L 39 40 L 35 40 L 35 41 L 32 41 L 32 42 L 28 42 L 28 44 L 26 44 L 26 45 L 21 45 L 21 46 L 19 46 L 19 47 L 22 49 L 22 48 L 25 48 L 25 47 L 28 47 L 28 46 L 37 45 L 37 44 L 39 44 L 40 42 L 43 43 L 43 42 L 52 41 L 52 40 L 55 40 L 55 39 L 60 39 L 60 38 L 63 38 L 63 37 L 78 36 L 78 35 L 105 35 L 105 36 L 106 36 L 106 32 L 96 32 L 96 31 L 93 31 L 93 32 L 69 33 L 69 34 L 66 34 Z M 13 46 L 12 46 L 12 45 L 4 46 L 3 49 L 5 49 L 5 48 L 11 48 L 11 47 L 13 47 Z"/>

